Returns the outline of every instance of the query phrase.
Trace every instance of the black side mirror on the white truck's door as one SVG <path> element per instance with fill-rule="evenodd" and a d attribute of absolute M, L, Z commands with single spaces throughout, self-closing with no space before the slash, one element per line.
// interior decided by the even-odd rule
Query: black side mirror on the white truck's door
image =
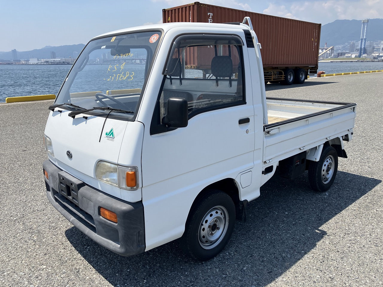
<path fill-rule="evenodd" d="M 173 128 L 186 127 L 188 125 L 188 101 L 185 98 L 170 97 L 162 124 Z"/>

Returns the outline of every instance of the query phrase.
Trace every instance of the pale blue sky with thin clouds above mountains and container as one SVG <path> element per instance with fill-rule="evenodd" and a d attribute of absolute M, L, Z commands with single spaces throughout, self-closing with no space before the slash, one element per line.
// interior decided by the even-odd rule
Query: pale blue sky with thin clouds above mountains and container
<path fill-rule="evenodd" d="M 201 0 L 201 3 L 321 23 L 383 18 L 383 0 Z M 0 51 L 86 44 L 118 29 L 162 23 L 162 9 L 191 0 L 0 0 Z M 256 32 L 256 31 L 255 31 Z"/>

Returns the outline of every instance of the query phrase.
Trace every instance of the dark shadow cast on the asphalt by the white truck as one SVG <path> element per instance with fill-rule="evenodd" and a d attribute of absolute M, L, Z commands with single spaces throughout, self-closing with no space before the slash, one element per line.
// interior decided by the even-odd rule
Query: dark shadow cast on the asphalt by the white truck
<path fill-rule="evenodd" d="M 65 235 L 114 286 L 264 286 L 323 238 L 331 241 L 332 234 L 321 226 L 380 183 L 378 179 L 338 171 L 332 188 L 327 193 L 316 193 L 309 187 L 307 172 L 294 180 L 275 175 L 262 186 L 261 196 L 248 204 L 247 222 L 236 222 L 223 252 L 203 263 L 186 258 L 178 241 L 123 257 L 75 227 L 66 230 Z"/>

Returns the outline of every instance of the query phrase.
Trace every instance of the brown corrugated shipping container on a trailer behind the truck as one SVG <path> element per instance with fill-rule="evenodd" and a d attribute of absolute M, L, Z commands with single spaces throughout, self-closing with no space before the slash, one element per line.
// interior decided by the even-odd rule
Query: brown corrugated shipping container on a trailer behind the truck
<path fill-rule="evenodd" d="M 163 9 L 164 23 L 242 22 L 249 16 L 258 41 L 262 45 L 261 55 L 264 68 L 301 67 L 318 70 L 319 37 L 321 24 L 270 16 L 232 8 L 219 7 L 200 2 Z M 189 65 L 198 66 L 198 53 L 186 55 Z"/>

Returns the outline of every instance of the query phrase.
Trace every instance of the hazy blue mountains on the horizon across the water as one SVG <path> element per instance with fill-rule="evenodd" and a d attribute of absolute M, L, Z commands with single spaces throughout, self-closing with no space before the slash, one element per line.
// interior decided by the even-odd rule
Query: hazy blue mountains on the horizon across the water
<path fill-rule="evenodd" d="M 336 46 L 347 43 L 348 41 L 359 41 L 362 29 L 361 20 L 335 20 L 334 22 L 322 25 L 320 46 Z M 367 26 L 367 41 L 383 41 L 383 19 L 370 19 Z M 74 57 L 73 52 L 80 52 L 84 44 L 65 45 L 65 46 L 46 46 L 41 49 L 20 52 L 17 51 L 19 59 L 50 59 L 51 51 L 56 53 L 57 57 Z M 0 59 L 10 60 L 11 51 L 0 52 Z"/>

